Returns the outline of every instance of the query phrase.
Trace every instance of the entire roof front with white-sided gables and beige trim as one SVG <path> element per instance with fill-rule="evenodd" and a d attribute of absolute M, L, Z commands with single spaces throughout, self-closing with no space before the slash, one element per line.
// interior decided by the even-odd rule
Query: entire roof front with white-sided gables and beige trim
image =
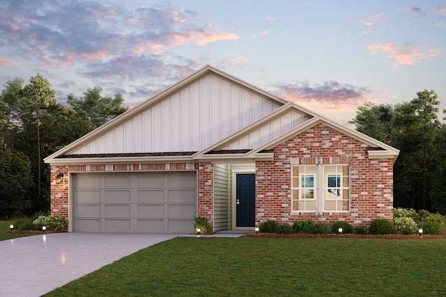
<path fill-rule="evenodd" d="M 212 109 L 215 100 L 217 108 Z M 222 108 L 225 110 L 220 111 Z M 182 114 L 183 109 L 187 109 L 187 113 Z M 232 113 L 234 117 L 227 118 Z M 209 123 L 213 127 L 208 127 Z M 45 163 L 271 159 L 273 147 L 319 123 L 369 145 L 371 158 L 397 159 L 399 150 L 390 145 L 206 65 L 47 156 Z M 141 138 L 151 139 L 144 143 Z M 179 145 L 182 141 L 186 143 L 183 146 Z"/>

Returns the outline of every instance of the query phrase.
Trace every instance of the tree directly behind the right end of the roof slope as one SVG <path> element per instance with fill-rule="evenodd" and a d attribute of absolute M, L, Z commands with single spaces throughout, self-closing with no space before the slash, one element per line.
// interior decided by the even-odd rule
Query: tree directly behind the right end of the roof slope
<path fill-rule="evenodd" d="M 390 104 L 366 102 L 357 108 L 356 116 L 349 121 L 357 131 L 390 144 L 392 142 L 392 121 L 394 109 Z"/>

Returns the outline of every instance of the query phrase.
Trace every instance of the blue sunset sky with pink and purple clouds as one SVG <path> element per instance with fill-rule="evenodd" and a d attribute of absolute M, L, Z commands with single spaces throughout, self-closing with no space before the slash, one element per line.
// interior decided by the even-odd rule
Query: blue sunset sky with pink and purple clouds
<path fill-rule="evenodd" d="M 132 108 L 207 64 L 343 125 L 424 89 L 443 110 L 446 1 L 0 1 L 2 89 L 40 73 Z"/>

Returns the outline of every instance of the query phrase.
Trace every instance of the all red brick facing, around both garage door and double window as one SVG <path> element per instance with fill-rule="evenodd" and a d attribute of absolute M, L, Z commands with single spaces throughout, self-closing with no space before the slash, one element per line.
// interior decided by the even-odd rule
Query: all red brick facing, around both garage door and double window
<path fill-rule="evenodd" d="M 393 159 L 370 159 L 368 145 L 325 125 L 316 125 L 274 148 L 273 161 L 256 161 L 256 225 L 272 219 L 278 223 L 307 220 L 332 224 L 346 220 L 368 226 L 377 217 L 392 218 Z M 343 164 L 350 167 L 350 209 L 344 212 L 291 211 L 291 168 L 303 164 Z M 130 163 L 52 166 L 51 212 L 69 215 L 70 173 L 101 171 L 197 170 L 197 214 L 213 224 L 213 164 Z M 56 176 L 65 175 L 58 184 Z"/>

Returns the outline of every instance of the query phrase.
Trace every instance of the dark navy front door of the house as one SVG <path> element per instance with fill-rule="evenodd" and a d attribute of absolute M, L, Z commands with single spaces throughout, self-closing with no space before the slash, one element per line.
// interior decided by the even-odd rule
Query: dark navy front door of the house
<path fill-rule="evenodd" d="M 236 226 L 254 227 L 256 224 L 256 178 L 254 173 L 236 175 Z"/>

